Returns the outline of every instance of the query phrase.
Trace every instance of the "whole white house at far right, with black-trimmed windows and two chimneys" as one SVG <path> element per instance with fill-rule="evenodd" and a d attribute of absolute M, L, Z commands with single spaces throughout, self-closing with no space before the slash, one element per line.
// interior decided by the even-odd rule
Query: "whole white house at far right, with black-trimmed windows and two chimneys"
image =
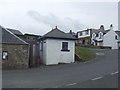
<path fill-rule="evenodd" d="M 103 28 L 97 31 L 93 31 L 91 41 L 93 45 L 118 49 L 120 42 L 119 31 L 115 32 L 112 25 L 110 25 L 110 29 L 108 30 L 104 30 Z"/>

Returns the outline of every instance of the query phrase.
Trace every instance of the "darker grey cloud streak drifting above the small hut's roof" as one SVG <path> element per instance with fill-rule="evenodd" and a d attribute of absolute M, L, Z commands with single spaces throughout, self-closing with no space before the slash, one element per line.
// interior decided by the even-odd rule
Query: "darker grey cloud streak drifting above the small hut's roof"
<path fill-rule="evenodd" d="M 29 11 L 28 15 L 39 23 L 49 25 L 50 27 L 58 26 L 61 30 L 67 32 L 69 30 L 76 31 L 85 28 L 85 26 L 81 24 L 78 20 L 73 20 L 69 17 L 60 19 L 53 13 L 49 13 L 49 15 L 44 16 L 37 11 Z"/>

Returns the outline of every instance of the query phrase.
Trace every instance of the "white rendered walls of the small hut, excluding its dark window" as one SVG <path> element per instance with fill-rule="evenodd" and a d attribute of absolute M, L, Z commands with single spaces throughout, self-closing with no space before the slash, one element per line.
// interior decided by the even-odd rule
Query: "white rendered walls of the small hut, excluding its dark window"
<path fill-rule="evenodd" d="M 61 51 L 62 42 L 68 42 L 68 50 Z M 46 45 L 46 46 L 45 46 Z M 75 41 L 47 39 L 43 47 L 43 63 L 46 65 L 53 65 L 58 63 L 71 63 L 74 62 L 75 54 Z"/>

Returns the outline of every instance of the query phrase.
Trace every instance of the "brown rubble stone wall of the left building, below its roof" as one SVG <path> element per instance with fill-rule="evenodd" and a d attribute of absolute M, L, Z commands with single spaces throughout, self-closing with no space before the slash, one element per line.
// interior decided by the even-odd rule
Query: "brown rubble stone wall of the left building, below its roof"
<path fill-rule="evenodd" d="M 8 52 L 8 58 L 2 60 L 3 69 L 29 67 L 29 45 L 2 44 L 2 51 Z"/>

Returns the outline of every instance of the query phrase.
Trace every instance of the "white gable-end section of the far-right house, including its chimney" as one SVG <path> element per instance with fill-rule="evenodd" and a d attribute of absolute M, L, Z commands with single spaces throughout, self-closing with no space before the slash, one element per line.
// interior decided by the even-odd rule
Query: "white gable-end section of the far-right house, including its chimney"
<path fill-rule="evenodd" d="M 110 27 L 110 31 L 104 35 L 104 40 L 103 40 L 103 46 L 109 46 L 112 47 L 112 49 L 118 49 L 119 48 L 119 42 L 120 42 L 120 37 L 119 37 L 119 31 L 114 31 L 113 27 Z"/>

